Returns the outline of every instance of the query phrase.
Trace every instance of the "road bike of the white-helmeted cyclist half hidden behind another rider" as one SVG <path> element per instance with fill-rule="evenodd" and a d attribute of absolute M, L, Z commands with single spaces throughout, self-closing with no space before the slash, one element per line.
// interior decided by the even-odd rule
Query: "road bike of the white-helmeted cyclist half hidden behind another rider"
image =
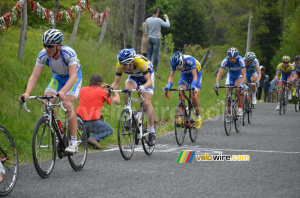
<path fill-rule="evenodd" d="M 245 86 L 244 101 L 243 101 L 243 126 L 245 126 L 246 115 L 247 115 L 248 124 L 250 124 L 252 120 L 252 111 L 254 109 L 254 104 L 252 104 L 251 85 L 255 85 L 255 83 L 247 83 Z"/>

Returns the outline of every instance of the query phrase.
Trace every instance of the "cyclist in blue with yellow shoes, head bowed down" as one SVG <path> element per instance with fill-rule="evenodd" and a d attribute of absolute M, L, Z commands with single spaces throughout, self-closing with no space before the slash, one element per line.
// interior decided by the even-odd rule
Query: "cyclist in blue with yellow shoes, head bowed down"
<path fill-rule="evenodd" d="M 166 87 L 164 87 L 164 90 L 169 91 L 169 89 L 172 88 L 175 71 L 180 71 L 181 76 L 178 84 L 179 88 L 187 89 L 190 87 L 190 89 L 195 90 L 195 92 L 192 93 L 196 95 L 196 98 L 194 98 L 192 95 L 193 104 L 196 110 L 195 128 L 200 129 L 202 126 L 202 119 L 200 117 L 200 102 L 198 100 L 198 95 L 200 93 L 202 83 L 201 64 L 194 57 L 190 55 L 183 55 L 179 51 L 172 55 L 170 63 L 170 76 L 168 79 L 168 84 Z M 179 124 L 182 123 L 182 116 L 183 115 L 179 115 Z"/>

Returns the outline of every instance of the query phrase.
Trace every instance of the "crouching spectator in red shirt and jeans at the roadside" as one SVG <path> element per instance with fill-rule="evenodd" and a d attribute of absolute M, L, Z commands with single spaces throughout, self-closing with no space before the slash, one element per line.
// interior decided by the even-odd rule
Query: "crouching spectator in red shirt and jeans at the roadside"
<path fill-rule="evenodd" d="M 112 127 L 104 122 L 101 110 L 104 102 L 111 104 L 110 98 L 107 97 L 105 89 L 101 88 L 102 77 L 100 75 L 92 75 L 90 78 L 90 86 L 83 87 L 79 93 L 79 105 L 76 113 L 84 120 L 84 125 L 88 135 L 88 143 L 94 148 L 101 149 L 99 142 L 110 136 L 113 132 Z M 105 87 L 103 85 L 103 87 Z M 115 93 L 114 103 L 120 104 L 120 97 Z M 93 134 L 91 136 L 91 133 Z"/>

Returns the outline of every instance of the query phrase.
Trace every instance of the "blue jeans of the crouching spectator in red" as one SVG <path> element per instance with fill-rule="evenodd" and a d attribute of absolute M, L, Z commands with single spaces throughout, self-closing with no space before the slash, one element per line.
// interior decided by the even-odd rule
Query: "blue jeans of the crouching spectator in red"
<path fill-rule="evenodd" d="M 102 120 L 84 122 L 88 138 L 91 137 L 100 142 L 104 138 L 110 136 L 113 132 L 112 127 Z"/>

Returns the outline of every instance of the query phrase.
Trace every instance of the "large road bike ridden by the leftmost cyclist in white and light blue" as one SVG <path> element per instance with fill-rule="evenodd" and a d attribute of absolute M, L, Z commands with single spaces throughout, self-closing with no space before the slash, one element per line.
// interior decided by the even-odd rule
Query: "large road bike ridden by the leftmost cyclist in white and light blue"
<path fill-rule="evenodd" d="M 78 152 L 70 154 L 65 152 L 65 149 L 69 145 L 70 132 L 67 122 L 66 109 L 63 106 L 62 101 L 57 104 L 52 103 L 52 99 L 58 99 L 58 96 L 30 96 L 27 101 L 21 98 L 21 105 L 24 109 L 30 113 L 26 107 L 26 102 L 31 99 L 37 99 L 45 105 L 44 115 L 38 119 L 35 124 L 32 136 L 32 155 L 33 162 L 37 173 L 42 178 L 50 176 L 54 169 L 56 161 L 56 152 L 60 159 L 68 157 L 71 167 L 75 171 L 80 171 L 86 162 L 87 158 L 87 132 L 84 126 L 82 118 L 77 115 L 77 146 Z M 64 112 L 65 128 L 61 130 L 59 126 L 58 117 L 54 115 L 54 109 L 60 107 Z"/>

